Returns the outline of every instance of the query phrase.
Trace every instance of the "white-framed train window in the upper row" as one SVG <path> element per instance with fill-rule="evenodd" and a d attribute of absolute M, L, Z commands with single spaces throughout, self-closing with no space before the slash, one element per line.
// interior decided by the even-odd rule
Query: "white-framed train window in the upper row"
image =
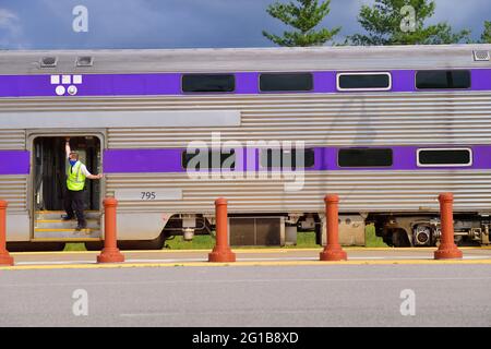
<path fill-rule="evenodd" d="M 391 73 L 338 73 L 338 91 L 388 91 L 392 88 Z"/>

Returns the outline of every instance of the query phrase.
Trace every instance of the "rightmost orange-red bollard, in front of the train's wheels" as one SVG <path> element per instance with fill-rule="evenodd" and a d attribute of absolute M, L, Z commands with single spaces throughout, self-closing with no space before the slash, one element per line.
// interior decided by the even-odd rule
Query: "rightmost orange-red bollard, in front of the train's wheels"
<path fill-rule="evenodd" d="M 462 258 L 462 251 L 457 249 L 457 245 L 454 242 L 454 214 L 452 208 L 454 195 L 452 193 L 440 194 L 439 201 L 442 240 L 439 249 L 434 252 L 434 258 Z"/>

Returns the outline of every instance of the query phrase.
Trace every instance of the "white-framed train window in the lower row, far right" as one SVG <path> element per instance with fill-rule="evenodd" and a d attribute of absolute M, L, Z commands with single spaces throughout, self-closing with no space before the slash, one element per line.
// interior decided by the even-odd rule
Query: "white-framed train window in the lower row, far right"
<path fill-rule="evenodd" d="M 418 149 L 418 166 L 472 166 L 472 151 L 469 148 Z"/>

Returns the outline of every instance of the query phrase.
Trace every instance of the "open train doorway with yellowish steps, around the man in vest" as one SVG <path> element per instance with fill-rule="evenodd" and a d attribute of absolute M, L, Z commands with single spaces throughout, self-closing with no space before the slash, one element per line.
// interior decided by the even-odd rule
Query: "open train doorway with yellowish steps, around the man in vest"
<path fill-rule="evenodd" d="M 70 137 L 72 152 L 91 173 L 101 172 L 101 140 L 97 135 L 39 135 L 33 139 L 32 194 L 33 240 L 92 241 L 100 238 L 99 180 L 86 180 L 83 191 L 84 213 L 87 228 L 75 230 L 74 220 L 62 220 L 63 197 L 67 189 L 65 137 Z"/>

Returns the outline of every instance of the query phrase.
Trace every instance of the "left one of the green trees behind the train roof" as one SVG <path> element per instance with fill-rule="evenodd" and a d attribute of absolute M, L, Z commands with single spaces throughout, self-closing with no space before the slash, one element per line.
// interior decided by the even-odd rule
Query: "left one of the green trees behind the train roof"
<path fill-rule="evenodd" d="M 315 29 L 330 13 L 331 0 L 325 0 L 321 4 L 319 4 L 319 0 L 296 0 L 296 2 L 275 2 L 267 7 L 266 11 L 271 16 L 292 26 L 295 31 L 284 32 L 283 36 L 263 31 L 265 37 L 279 46 L 320 46 L 339 33 L 340 27 L 332 31 Z"/>

